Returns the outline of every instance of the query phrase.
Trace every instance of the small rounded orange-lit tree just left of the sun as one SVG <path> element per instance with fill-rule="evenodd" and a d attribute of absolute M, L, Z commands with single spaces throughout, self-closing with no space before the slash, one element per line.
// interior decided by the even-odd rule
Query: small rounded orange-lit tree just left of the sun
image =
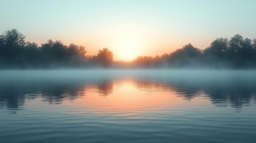
<path fill-rule="evenodd" d="M 103 48 L 102 50 L 99 50 L 99 53 L 97 53 L 97 58 L 103 67 L 106 68 L 113 62 L 113 53 L 108 50 L 108 48 Z"/>

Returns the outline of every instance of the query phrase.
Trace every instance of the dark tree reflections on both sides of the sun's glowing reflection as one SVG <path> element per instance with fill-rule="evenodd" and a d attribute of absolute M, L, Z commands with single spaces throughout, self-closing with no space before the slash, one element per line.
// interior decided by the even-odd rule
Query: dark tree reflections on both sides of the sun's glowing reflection
<path fill-rule="evenodd" d="M 116 79 L 119 81 L 119 79 Z M 63 101 L 73 101 L 84 97 L 87 90 L 95 88 L 97 94 L 107 97 L 113 93 L 113 88 L 121 82 L 115 79 L 102 80 L 36 80 L 9 81 L 0 83 L 0 109 L 20 110 L 26 100 L 40 99 L 50 104 Z M 122 81 L 122 80 L 121 80 Z M 132 84 L 139 90 L 147 92 L 175 92 L 175 95 L 191 101 L 199 96 L 207 97 L 216 106 L 231 106 L 241 108 L 255 103 L 256 83 L 247 79 L 236 81 L 216 80 L 177 80 L 177 79 L 134 79 Z M 92 87 L 92 85 L 94 85 Z M 135 93 L 136 94 L 136 93 Z M 154 94 L 154 93 L 153 93 Z M 156 93 L 157 95 L 157 93 Z"/>

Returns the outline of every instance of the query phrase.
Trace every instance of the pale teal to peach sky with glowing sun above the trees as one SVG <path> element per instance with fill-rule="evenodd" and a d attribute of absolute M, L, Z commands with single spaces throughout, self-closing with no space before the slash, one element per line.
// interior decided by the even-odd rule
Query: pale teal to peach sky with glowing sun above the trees
<path fill-rule="evenodd" d="M 115 60 L 204 49 L 217 37 L 256 38 L 256 0 L 0 0 L 0 33 L 17 29 L 38 45 L 108 48 Z"/>

